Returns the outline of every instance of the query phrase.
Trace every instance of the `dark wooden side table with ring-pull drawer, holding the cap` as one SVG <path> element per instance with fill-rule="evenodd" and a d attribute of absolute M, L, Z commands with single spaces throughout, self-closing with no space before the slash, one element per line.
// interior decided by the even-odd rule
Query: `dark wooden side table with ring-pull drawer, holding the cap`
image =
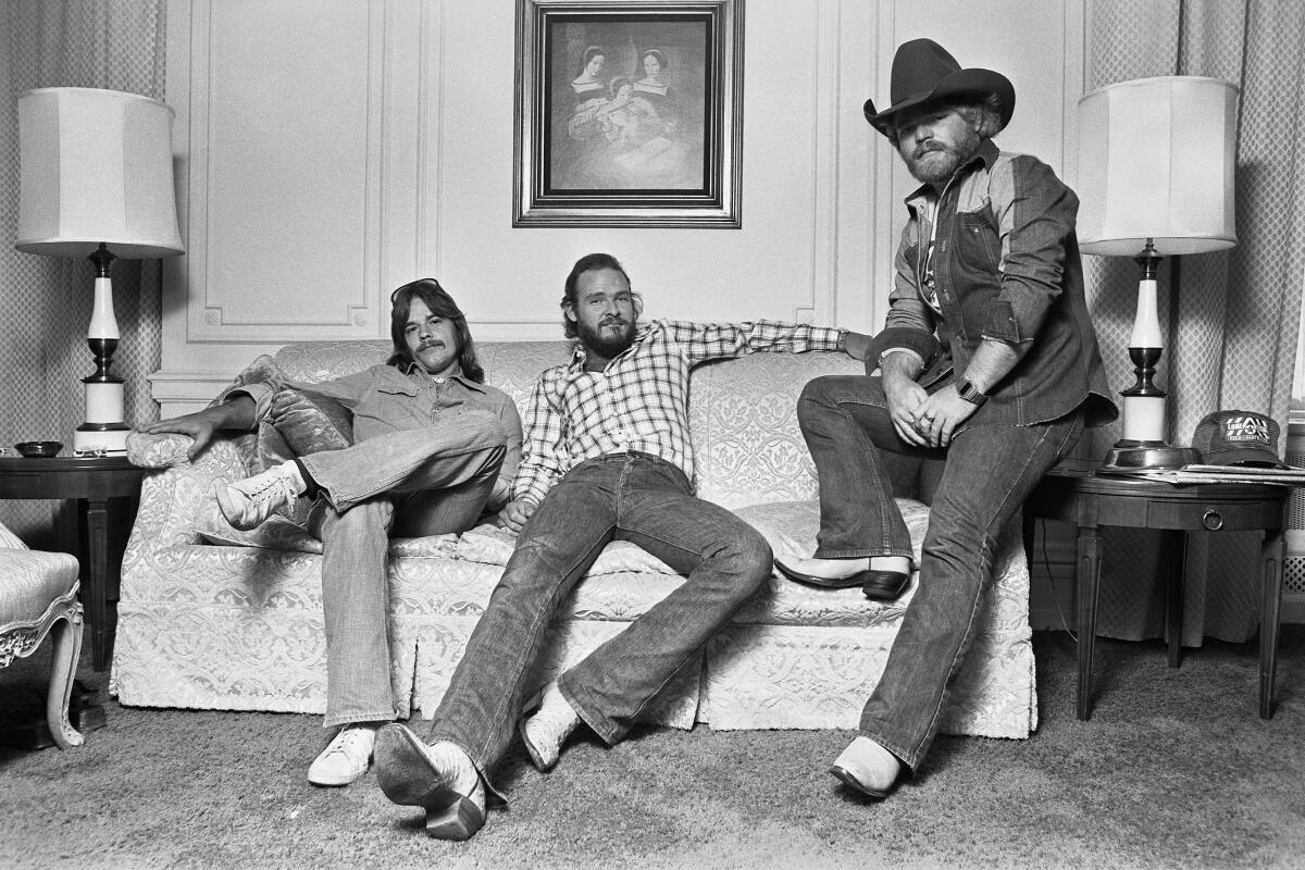
<path fill-rule="evenodd" d="M 1087 466 L 1053 468 L 1024 502 L 1024 547 L 1032 560 L 1034 519 L 1078 526 L 1074 583 L 1078 609 L 1078 717 L 1092 710 L 1092 653 L 1101 580 L 1101 526 L 1156 528 L 1165 549 L 1165 620 L 1169 667 L 1181 664 L 1182 599 L 1189 533 L 1261 531 L 1259 715 L 1274 713 L 1278 622 L 1283 593 L 1284 506 L 1291 489 L 1271 484 L 1173 485 L 1095 475 Z"/>

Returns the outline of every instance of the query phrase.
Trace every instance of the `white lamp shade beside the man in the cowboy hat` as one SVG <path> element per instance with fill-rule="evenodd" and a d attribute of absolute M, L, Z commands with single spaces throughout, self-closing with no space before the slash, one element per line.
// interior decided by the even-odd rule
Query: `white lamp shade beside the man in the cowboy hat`
<path fill-rule="evenodd" d="M 1078 100 L 1078 239 L 1083 253 L 1160 256 L 1237 244 L 1237 86 L 1169 76 Z"/>

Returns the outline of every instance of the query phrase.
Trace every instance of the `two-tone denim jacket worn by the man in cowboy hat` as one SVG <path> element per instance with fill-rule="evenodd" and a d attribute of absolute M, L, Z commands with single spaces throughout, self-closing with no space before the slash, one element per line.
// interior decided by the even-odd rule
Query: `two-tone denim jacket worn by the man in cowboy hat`
<path fill-rule="evenodd" d="M 963 377 L 979 343 L 993 339 L 1021 359 L 966 425 L 1047 423 L 1084 402 L 1087 425 L 1118 416 L 1083 296 L 1074 192 L 1037 158 L 990 141 L 944 188 L 936 228 L 930 189 L 906 200 L 889 314 L 867 372 L 886 350 L 908 348 L 925 364 L 919 382 L 933 391 Z M 941 314 L 921 292 L 930 237 Z"/>

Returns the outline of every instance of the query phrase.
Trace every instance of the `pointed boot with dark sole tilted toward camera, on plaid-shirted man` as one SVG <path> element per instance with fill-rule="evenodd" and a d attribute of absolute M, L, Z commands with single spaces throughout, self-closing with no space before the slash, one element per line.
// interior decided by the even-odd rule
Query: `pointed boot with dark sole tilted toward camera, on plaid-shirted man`
<path fill-rule="evenodd" d="M 425 832 L 467 840 L 485 823 L 485 784 L 471 758 L 449 741 L 427 745 L 392 723 L 376 742 L 376 779 L 392 802 L 425 810 Z"/>

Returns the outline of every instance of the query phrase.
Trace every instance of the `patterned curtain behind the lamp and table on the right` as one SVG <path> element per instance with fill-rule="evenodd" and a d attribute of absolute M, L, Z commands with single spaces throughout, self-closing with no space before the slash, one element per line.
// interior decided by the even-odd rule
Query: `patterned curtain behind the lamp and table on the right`
<path fill-rule="evenodd" d="M 1237 128 L 1238 244 L 1171 257 L 1160 270 L 1169 342 L 1158 382 L 1169 394 L 1169 442 L 1190 445 L 1205 415 L 1267 413 L 1287 436 L 1305 275 L 1305 4 L 1298 0 L 1094 0 L 1087 87 L 1151 76 L 1208 76 L 1241 87 Z M 1133 383 L 1128 340 L 1138 269 L 1084 257 L 1088 304 L 1111 383 Z M 1165 304 L 1177 282 L 1176 307 Z M 1103 457 L 1118 425 L 1090 432 L 1081 451 Z M 1279 442 L 1279 450 L 1285 443 Z M 1241 642 L 1258 627 L 1258 535 L 1195 535 L 1188 550 L 1184 646 Z M 1159 533 L 1107 530 L 1101 633 L 1163 631 Z"/>

